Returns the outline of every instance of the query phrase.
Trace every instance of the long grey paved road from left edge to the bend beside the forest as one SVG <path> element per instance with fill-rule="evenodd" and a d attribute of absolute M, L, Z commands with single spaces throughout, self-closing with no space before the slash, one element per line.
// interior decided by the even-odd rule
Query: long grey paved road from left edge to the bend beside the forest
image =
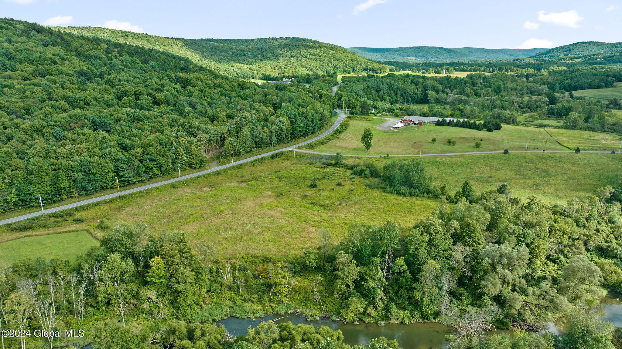
<path fill-rule="evenodd" d="M 318 135 L 317 137 L 313 137 L 310 140 L 305 140 L 305 142 L 300 142 L 295 147 L 300 147 L 300 146 L 305 145 L 307 143 L 314 142 L 314 141 L 316 141 L 316 140 L 318 140 L 318 139 L 320 139 L 322 137 L 326 137 L 327 135 L 331 134 L 335 129 L 337 129 L 337 127 L 339 127 L 341 122 L 343 122 L 343 119 L 345 119 L 345 114 L 340 109 L 335 109 L 335 111 L 337 111 L 337 121 L 335 121 L 335 123 L 333 125 L 331 125 L 328 130 L 323 132 L 321 135 Z M 145 189 L 156 188 L 156 187 L 164 185 L 164 184 L 174 183 L 174 182 L 178 182 L 178 181 L 183 181 L 184 179 L 193 178 L 193 177 L 197 177 L 197 176 L 202 176 L 203 174 L 212 173 L 212 172 L 215 172 L 215 171 L 218 171 L 218 170 L 223 170 L 223 169 L 231 167 L 231 166 L 240 165 L 242 163 L 246 163 L 246 162 L 249 162 L 249 161 L 257 160 L 259 158 L 263 158 L 264 156 L 272 155 L 272 153 L 279 153 L 279 152 L 285 152 L 286 150 L 292 150 L 295 147 L 282 148 L 282 149 L 279 149 L 279 150 L 275 150 L 274 152 L 267 152 L 267 153 L 263 153 L 263 154 L 260 154 L 260 155 L 251 156 L 250 158 L 238 160 L 238 161 L 235 161 L 233 163 L 228 163 L 226 165 L 221 165 L 221 166 L 218 166 L 218 167 L 215 167 L 215 168 L 210 168 L 209 170 L 204 170 L 204 171 L 199 171 L 199 172 L 196 172 L 196 173 L 186 174 L 185 176 L 182 176 L 181 178 L 168 179 L 166 181 L 161 181 L 161 182 L 157 182 L 157 183 L 147 184 L 146 186 L 140 186 L 140 187 L 137 187 L 137 188 L 132 188 L 132 189 L 124 190 L 124 191 L 121 192 L 121 195 L 132 194 L 132 193 L 136 193 L 137 191 L 142 191 L 142 190 L 145 190 Z M 299 150 L 297 150 L 297 151 L 299 151 Z M 98 201 L 102 201 L 102 200 L 112 199 L 113 197 L 117 197 L 117 196 L 119 196 L 119 193 L 114 193 L 114 194 L 108 194 L 108 195 L 104 195 L 104 196 L 93 197 L 92 199 L 78 201 L 78 202 L 73 202 L 72 204 L 67 204 L 67 205 L 63 205 L 63 206 L 52 207 L 50 209 L 45 209 L 44 212 L 45 213 L 52 213 L 52 212 L 57 212 L 57 211 L 65 210 L 65 209 L 71 209 L 73 207 L 78 207 L 78 206 L 82 206 L 82 205 L 86 205 L 86 204 L 91 204 L 93 202 L 98 202 Z M 29 214 L 19 215 L 17 217 L 12 217 L 12 218 L 8 218 L 8 219 L 0 220 L 0 225 L 7 224 L 7 223 L 12 223 L 12 222 L 17 222 L 18 220 L 24 220 L 24 219 L 29 219 L 29 218 L 32 218 L 32 217 L 37 217 L 38 215 L 42 215 L 42 214 L 43 214 L 43 212 L 39 211 L 39 212 L 33 212 L 33 213 L 29 213 Z"/>

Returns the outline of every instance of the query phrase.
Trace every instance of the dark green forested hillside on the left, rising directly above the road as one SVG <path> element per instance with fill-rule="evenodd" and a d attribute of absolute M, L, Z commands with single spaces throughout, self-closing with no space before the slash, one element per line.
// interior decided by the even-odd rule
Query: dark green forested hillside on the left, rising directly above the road
<path fill-rule="evenodd" d="M 200 167 L 322 129 L 330 85 L 234 80 L 188 58 L 0 20 L 0 209 Z"/>

